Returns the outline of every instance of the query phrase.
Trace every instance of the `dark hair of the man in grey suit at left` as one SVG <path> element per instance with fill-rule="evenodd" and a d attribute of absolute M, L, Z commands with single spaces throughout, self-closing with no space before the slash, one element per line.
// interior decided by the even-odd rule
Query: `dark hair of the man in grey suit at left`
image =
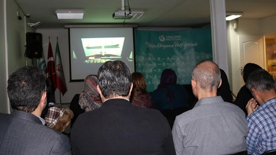
<path fill-rule="evenodd" d="M 36 66 L 16 69 L 8 78 L 7 93 L 13 109 L 32 113 L 46 91 L 46 75 Z"/>

